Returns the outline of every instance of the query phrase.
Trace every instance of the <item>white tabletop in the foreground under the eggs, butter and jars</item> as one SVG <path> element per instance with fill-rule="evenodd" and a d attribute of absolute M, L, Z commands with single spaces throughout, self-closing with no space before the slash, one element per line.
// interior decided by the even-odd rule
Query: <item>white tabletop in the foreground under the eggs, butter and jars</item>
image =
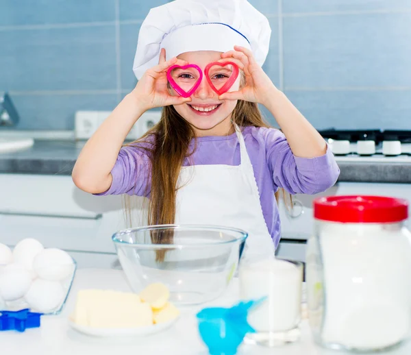
<path fill-rule="evenodd" d="M 227 293 L 212 305 L 228 306 L 236 302 L 236 282 Z M 198 309 L 183 309 L 175 326 L 164 332 L 143 338 L 103 339 L 75 332 L 67 322 L 73 311 L 79 289 L 114 289 L 129 291 L 123 272 L 107 269 L 79 269 L 66 307 L 61 315 L 42 317 L 40 328 L 23 333 L 0 332 L 0 351 L 8 355 L 207 355 L 208 351 L 197 332 L 195 313 Z M 206 306 L 209 306 L 206 305 Z M 201 307 L 203 308 L 204 305 Z M 336 355 L 345 354 L 317 347 L 312 342 L 307 321 L 301 325 L 298 343 L 269 349 L 242 345 L 238 355 Z M 383 353 L 379 353 L 382 355 Z M 411 354 L 411 342 L 397 348 L 390 355 Z"/>

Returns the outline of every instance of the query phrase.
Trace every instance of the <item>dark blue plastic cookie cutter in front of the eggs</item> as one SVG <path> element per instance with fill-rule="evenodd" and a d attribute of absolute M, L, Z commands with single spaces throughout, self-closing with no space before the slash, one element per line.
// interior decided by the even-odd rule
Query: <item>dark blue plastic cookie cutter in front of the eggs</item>
<path fill-rule="evenodd" d="M 42 313 L 32 313 L 29 309 L 0 311 L 0 331 L 17 330 L 24 332 L 28 328 L 40 327 Z"/>

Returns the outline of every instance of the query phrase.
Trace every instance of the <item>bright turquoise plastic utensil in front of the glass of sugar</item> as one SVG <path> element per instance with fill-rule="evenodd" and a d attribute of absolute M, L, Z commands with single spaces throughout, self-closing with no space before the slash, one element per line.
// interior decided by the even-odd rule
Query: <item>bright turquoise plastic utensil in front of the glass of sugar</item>
<path fill-rule="evenodd" d="M 256 301 L 240 302 L 231 308 L 204 308 L 197 313 L 201 339 L 211 355 L 234 355 L 245 334 L 256 332 L 247 322 L 251 308 L 266 297 Z"/>

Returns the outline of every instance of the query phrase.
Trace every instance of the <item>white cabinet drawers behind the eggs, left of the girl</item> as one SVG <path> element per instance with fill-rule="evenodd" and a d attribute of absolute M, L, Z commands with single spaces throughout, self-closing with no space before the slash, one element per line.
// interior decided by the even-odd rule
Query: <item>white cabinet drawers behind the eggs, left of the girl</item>
<path fill-rule="evenodd" d="M 124 197 L 84 193 L 71 176 L 23 174 L 0 174 L 0 196 L 1 243 L 36 238 L 71 252 L 79 267 L 114 264 L 112 234 L 127 228 Z M 133 198 L 141 215 L 142 199 Z"/>

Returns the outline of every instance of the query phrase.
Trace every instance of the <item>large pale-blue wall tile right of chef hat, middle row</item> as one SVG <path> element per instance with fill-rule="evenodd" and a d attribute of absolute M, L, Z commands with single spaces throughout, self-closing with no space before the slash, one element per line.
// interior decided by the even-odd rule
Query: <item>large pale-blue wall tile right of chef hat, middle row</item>
<path fill-rule="evenodd" d="M 284 19 L 287 87 L 409 86 L 411 12 Z"/>

